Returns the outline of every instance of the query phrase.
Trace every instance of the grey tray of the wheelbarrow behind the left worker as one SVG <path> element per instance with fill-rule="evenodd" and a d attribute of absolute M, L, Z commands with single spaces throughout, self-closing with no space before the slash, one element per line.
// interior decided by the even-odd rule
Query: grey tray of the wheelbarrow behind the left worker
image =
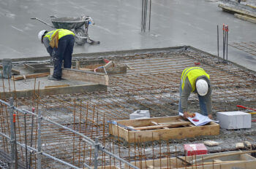
<path fill-rule="evenodd" d="M 80 17 L 59 17 L 51 20 L 54 28 L 75 29 L 82 27 L 86 21 Z"/>

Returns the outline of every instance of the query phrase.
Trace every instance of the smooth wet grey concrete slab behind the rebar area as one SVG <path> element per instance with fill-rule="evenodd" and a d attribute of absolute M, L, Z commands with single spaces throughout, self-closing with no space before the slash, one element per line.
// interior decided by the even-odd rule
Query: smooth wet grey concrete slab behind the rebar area
<path fill-rule="evenodd" d="M 255 2 L 255 0 L 250 0 Z M 50 27 L 30 20 L 39 17 L 50 23 L 50 15 L 89 15 L 89 36 L 100 44 L 75 45 L 74 53 L 135 50 L 190 45 L 217 55 L 217 25 L 229 25 L 229 42 L 255 42 L 256 24 L 222 12 L 215 0 L 153 0 L 151 31 L 140 32 L 141 1 L 138 0 L 0 0 L 0 58 L 46 56 L 37 33 Z M 148 26 L 147 26 L 148 28 Z M 219 28 L 219 55 L 222 30 Z M 256 56 L 228 48 L 228 59 L 256 71 Z"/>

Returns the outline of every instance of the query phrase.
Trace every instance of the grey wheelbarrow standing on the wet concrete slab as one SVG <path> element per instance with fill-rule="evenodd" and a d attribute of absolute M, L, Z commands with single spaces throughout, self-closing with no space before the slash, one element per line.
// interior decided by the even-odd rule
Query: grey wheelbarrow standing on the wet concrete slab
<path fill-rule="evenodd" d="M 83 16 L 83 17 L 54 17 L 50 16 L 51 22 L 46 23 L 43 20 L 40 20 L 37 17 L 32 17 L 32 20 L 39 20 L 41 23 L 45 23 L 45 25 L 50 26 L 51 28 L 64 28 L 68 29 L 75 34 L 75 43 L 78 45 L 83 45 L 86 42 L 89 44 L 99 44 L 98 41 L 94 41 L 90 38 L 88 35 L 88 28 L 90 24 L 94 25 L 94 21 L 89 16 Z"/>

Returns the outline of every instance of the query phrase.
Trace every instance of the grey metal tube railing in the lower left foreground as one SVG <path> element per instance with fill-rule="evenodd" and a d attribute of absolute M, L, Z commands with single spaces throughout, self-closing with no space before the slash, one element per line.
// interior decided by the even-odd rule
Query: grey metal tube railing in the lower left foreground
<path fill-rule="evenodd" d="M 3 136 L 4 138 L 7 138 L 10 141 L 11 157 L 12 157 L 12 160 L 10 162 L 10 168 L 18 168 L 18 152 L 17 152 L 17 145 L 18 145 L 18 146 L 23 147 L 26 150 L 26 153 L 27 153 L 27 151 L 29 151 L 30 154 L 31 153 L 37 154 L 37 169 L 41 169 L 42 156 L 45 156 L 52 160 L 60 162 L 64 165 L 69 166 L 70 168 L 79 169 L 78 167 L 70 164 L 69 162 L 65 162 L 64 160 L 60 160 L 59 158 L 53 157 L 50 154 L 42 152 L 41 130 L 42 130 L 42 120 L 44 120 L 45 122 L 48 122 L 52 125 L 56 125 L 58 127 L 63 128 L 64 130 L 68 130 L 71 133 L 79 135 L 83 141 L 90 144 L 91 146 L 94 146 L 94 169 L 98 168 L 98 153 L 99 153 L 99 151 L 102 151 L 105 154 L 108 154 L 111 157 L 116 158 L 116 160 L 120 160 L 121 162 L 124 162 L 125 164 L 129 165 L 129 167 L 131 167 L 131 168 L 138 169 L 138 167 L 136 167 L 135 165 L 132 165 L 130 162 L 127 162 L 126 160 L 121 159 L 121 157 L 118 157 L 115 154 L 108 152 L 108 150 L 106 150 L 105 147 L 99 143 L 99 138 L 95 138 L 95 141 L 93 141 L 91 138 L 87 137 L 86 135 L 83 135 L 82 133 L 79 133 L 75 130 L 70 129 L 69 127 L 65 127 L 64 125 L 60 125 L 57 122 L 53 122 L 50 119 L 42 117 L 41 110 L 38 111 L 38 114 L 35 114 L 34 112 L 28 111 L 26 109 L 18 109 L 17 107 L 15 107 L 13 105 L 13 98 L 10 98 L 10 103 L 7 103 L 0 99 L 0 103 L 3 103 L 4 105 L 8 106 L 8 111 L 10 113 L 9 114 L 10 115 L 10 123 L 11 123 L 10 136 L 0 132 L 1 136 Z M 15 116 L 16 116 L 16 114 L 14 114 L 14 111 L 17 111 L 17 113 L 24 114 L 25 116 L 26 116 L 26 114 L 30 114 L 34 117 L 37 117 L 37 127 L 38 127 L 38 129 L 37 129 L 37 149 L 35 149 L 27 144 L 21 144 L 20 142 L 17 141 L 16 132 L 15 132 Z M 25 122 L 26 122 L 26 120 L 25 120 Z M 26 126 L 26 124 L 25 124 L 25 126 Z M 86 163 L 83 163 L 83 165 L 86 168 L 91 168 L 91 166 L 87 165 Z M 27 168 L 27 160 L 26 160 L 26 168 Z"/>

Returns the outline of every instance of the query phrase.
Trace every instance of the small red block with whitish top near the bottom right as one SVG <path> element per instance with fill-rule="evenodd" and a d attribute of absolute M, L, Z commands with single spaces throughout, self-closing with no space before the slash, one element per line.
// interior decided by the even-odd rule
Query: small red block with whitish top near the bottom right
<path fill-rule="evenodd" d="M 187 156 L 207 154 L 208 152 L 204 144 L 184 144 L 184 151 Z"/>

